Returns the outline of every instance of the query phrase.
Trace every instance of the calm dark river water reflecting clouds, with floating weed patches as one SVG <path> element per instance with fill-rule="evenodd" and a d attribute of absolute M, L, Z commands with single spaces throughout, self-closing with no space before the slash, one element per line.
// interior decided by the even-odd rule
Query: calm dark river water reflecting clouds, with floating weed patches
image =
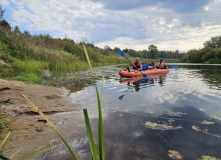
<path fill-rule="evenodd" d="M 169 73 L 121 78 L 126 66 L 94 68 L 102 92 L 106 159 L 221 158 L 221 65 L 178 65 Z M 66 85 L 73 103 L 87 108 L 97 143 L 97 98 L 89 71 Z M 91 159 L 85 143 L 82 159 Z M 86 154 L 85 154 L 86 153 Z"/>

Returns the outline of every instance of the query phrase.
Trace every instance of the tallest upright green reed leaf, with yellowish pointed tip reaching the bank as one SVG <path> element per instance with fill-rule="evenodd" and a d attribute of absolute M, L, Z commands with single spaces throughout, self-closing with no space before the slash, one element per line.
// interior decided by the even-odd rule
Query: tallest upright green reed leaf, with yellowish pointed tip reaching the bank
<path fill-rule="evenodd" d="M 96 93 L 97 93 L 97 101 L 98 101 L 98 114 L 99 114 L 99 120 L 98 120 L 98 148 L 99 148 L 99 159 L 100 160 L 105 160 L 105 151 L 104 151 L 104 133 L 103 133 L 103 121 L 102 121 L 102 111 L 101 111 L 101 100 L 99 96 L 99 92 L 97 89 L 97 84 L 94 78 L 93 70 L 91 67 L 89 55 L 87 53 L 87 49 L 85 45 L 83 44 L 84 47 L 84 52 L 88 61 L 88 64 L 90 66 L 91 74 L 94 80 L 95 88 L 96 88 Z"/>

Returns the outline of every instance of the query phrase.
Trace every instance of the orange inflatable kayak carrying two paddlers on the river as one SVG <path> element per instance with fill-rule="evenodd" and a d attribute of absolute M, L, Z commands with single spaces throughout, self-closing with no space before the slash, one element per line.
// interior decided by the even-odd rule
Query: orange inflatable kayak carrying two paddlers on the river
<path fill-rule="evenodd" d="M 153 74 L 160 74 L 160 73 L 168 73 L 169 69 L 151 69 L 151 70 L 142 70 L 142 73 L 146 75 L 153 75 Z M 138 77 L 143 76 L 143 74 L 140 71 L 120 71 L 119 75 L 121 77 Z"/>

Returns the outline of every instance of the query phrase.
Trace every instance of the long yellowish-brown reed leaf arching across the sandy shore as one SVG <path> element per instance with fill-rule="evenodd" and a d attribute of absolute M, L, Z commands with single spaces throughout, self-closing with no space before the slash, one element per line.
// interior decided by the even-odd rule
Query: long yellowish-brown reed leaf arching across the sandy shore
<path fill-rule="evenodd" d="M 69 151 L 71 152 L 72 156 L 74 157 L 75 160 L 78 160 L 77 156 L 75 155 L 75 153 L 73 152 L 73 150 L 71 149 L 71 147 L 68 145 L 68 143 L 65 141 L 65 139 L 63 138 L 63 136 L 60 134 L 60 132 L 57 130 L 57 128 L 53 125 L 53 123 L 51 123 L 51 121 L 44 115 L 44 113 L 38 109 L 38 107 L 36 107 L 25 95 L 23 95 L 22 93 L 20 93 L 19 91 L 10 88 L 12 91 L 14 91 L 15 93 L 17 93 L 19 96 L 21 96 L 29 105 L 31 105 L 33 107 L 33 109 L 38 112 L 50 125 L 51 127 L 57 132 L 57 134 L 60 136 L 60 138 L 62 139 L 62 141 L 65 143 L 65 145 L 67 146 L 67 148 L 69 149 Z"/>

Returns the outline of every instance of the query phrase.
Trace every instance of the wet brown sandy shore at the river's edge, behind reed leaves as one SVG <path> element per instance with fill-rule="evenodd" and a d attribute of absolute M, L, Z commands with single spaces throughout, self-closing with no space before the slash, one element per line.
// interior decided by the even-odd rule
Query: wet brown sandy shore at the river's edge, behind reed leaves
<path fill-rule="evenodd" d="M 64 136 L 73 132 L 73 129 L 76 137 L 86 134 L 81 106 L 71 103 L 71 100 L 67 98 L 68 91 L 65 88 L 0 79 L 0 89 L 4 87 L 17 89 L 28 97 L 41 111 L 47 114 Z M 9 157 L 19 148 L 26 146 L 14 158 L 17 159 L 31 149 L 41 145 L 50 146 L 52 140 L 59 139 L 49 124 L 45 123 L 43 118 L 13 91 L 0 92 L 0 105 L 2 106 L 1 112 L 11 122 L 10 129 L 12 130 L 10 140 L 3 147 L 3 155 Z M 66 112 L 72 113 L 72 116 L 69 116 L 71 118 L 65 116 Z M 71 121 L 72 127 L 65 124 L 69 121 Z M 4 129 L 1 136 L 5 136 L 8 132 Z"/>

